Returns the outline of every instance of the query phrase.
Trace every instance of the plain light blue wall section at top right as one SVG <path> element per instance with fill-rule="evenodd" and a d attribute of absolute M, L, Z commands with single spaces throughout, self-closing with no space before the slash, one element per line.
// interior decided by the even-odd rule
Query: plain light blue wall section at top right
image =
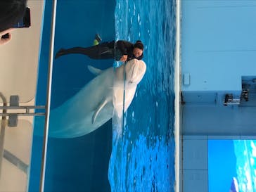
<path fill-rule="evenodd" d="M 182 1 L 183 91 L 241 91 L 256 71 L 256 1 Z"/>

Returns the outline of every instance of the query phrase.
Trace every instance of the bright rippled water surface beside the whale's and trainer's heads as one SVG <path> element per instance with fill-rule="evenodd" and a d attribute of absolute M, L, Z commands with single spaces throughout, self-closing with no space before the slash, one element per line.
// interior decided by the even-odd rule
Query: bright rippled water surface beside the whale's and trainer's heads
<path fill-rule="evenodd" d="M 174 1 L 116 2 L 116 39 L 144 42 L 147 71 L 124 115 L 122 137 L 113 124 L 111 189 L 173 191 Z"/>

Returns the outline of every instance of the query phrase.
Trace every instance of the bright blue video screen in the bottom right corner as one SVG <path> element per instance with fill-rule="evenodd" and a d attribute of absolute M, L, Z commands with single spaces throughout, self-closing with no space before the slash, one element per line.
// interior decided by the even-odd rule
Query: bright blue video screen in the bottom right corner
<path fill-rule="evenodd" d="M 256 140 L 209 140 L 209 191 L 256 191 Z"/>

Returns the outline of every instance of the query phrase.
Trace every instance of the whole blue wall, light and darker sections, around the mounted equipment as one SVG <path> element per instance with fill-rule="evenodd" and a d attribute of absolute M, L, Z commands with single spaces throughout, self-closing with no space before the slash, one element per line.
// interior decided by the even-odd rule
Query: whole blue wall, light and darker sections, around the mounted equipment
<path fill-rule="evenodd" d="M 184 134 L 256 134 L 256 1 L 182 1 Z M 252 77 L 251 77 L 252 76 Z M 225 94 L 249 101 L 223 105 Z"/>

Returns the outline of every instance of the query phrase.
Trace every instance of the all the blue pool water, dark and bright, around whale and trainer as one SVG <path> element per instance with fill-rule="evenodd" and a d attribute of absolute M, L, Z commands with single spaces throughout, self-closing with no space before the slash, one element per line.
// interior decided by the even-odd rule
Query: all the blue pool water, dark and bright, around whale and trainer
<path fill-rule="evenodd" d="M 37 104 L 45 102 L 51 1 L 46 1 L 44 14 Z M 121 135 L 114 116 L 91 134 L 49 138 L 45 190 L 174 191 L 174 1 L 58 1 L 55 52 L 61 47 L 90 46 L 96 32 L 105 41 L 141 39 L 146 74 L 124 114 Z M 94 78 L 87 65 L 105 69 L 120 63 L 82 55 L 54 60 L 51 109 Z M 38 122 L 35 119 L 35 130 Z M 51 124 L 50 129 L 54 129 Z M 30 191 L 39 187 L 41 141 L 34 135 Z"/>

